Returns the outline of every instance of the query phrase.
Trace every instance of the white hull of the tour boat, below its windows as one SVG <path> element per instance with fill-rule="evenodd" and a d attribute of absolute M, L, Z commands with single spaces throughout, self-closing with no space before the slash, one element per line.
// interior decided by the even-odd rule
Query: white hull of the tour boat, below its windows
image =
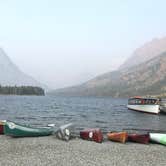
<path fill-rule="evenodd" d="M 159 105 L 127 105 L 127 108 L 134 111 L 158 114 L 160 112 Z"/>

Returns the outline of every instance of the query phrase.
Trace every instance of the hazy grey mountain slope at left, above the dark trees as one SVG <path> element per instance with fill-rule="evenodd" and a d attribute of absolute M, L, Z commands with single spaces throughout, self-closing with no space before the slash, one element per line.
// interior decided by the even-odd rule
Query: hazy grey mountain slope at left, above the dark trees
<path fill-rule="evenodd" d="M 0 48 L 0 85 L 41 86 L 38 81 L 23 73 Z"/>

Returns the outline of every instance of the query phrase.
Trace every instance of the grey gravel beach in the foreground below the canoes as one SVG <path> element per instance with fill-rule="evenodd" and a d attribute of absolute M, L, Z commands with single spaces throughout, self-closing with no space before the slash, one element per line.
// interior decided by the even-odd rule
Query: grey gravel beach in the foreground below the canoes
<path fill-rule="evenodd" d="M 81 139 L 69 142 L 54 136 L 0 136 L 0 165 L 7 166 L 160 166 L 166 165 L 166 146 Z"/>

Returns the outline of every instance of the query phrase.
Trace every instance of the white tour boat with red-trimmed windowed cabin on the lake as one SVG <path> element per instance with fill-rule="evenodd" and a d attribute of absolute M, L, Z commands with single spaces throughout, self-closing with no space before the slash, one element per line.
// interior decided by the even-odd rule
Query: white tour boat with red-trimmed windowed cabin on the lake
<path fill-rule="evenodd" d="M 158 114 L 159 106 L 159 99 L 140 96 L 130 98 L 127 105 L 128 109 L 151 114 Z"/>

